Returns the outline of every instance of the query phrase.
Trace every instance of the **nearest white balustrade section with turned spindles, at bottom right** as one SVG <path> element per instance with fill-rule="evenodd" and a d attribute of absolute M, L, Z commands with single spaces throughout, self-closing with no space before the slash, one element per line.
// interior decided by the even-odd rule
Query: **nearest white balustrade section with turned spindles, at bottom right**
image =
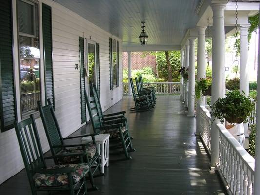
<path fill-rule="evenodd" d="M 232 195 L 252 195 L 255 159 L 222 125 L 217 124 L 220 136 L 218 171 Z"/>

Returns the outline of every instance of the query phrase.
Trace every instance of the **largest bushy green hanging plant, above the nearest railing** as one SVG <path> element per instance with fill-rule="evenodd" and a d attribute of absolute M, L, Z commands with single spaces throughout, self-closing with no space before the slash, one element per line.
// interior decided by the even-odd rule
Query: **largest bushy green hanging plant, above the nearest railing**
<path fill-rule="evenodd" d="M 247 122 L 254 109 L 254 103 L 249 97 L 246 97 L 238 90 L 231 91 L 226 94 L 225 98 L 218 98 L 218 100 L 211 106 L 211 116 L 224 119 L 231 124 L 238 124 Z"/>

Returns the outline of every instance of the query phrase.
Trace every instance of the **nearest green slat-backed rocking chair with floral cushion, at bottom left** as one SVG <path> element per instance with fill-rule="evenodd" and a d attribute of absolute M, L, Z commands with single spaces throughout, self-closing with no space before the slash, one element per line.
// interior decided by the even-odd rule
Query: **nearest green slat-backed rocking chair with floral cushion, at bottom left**
<path fill-rule="evenodd" d="M 46 167 L 33 115 L 20 123 L 16 121 L 15 131 L 32 195 L 37 195 L 39 191 L 50 193 L 65 190 L 69 191 L 70 195 L 79 195 L 80 191 L 83 191 L 83 195 L 87 194 L 85 175 L 90 170 L 88 164 L 79 163 Z M 80 156 L 82 162 L 82 156 L 85 156 L 86 153 L 51 156 L 49 159 L 71 155 Z"/>

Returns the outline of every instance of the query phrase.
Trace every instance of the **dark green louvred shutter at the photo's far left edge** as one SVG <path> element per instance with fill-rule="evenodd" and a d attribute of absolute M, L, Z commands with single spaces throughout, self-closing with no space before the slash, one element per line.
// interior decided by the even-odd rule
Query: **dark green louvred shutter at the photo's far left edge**
<path fill-rule="evenodd" d="M 12 0 L 0 6 L 0 118 L 1 131 L 14 127 L 16 99 L 13 69 Z"/>

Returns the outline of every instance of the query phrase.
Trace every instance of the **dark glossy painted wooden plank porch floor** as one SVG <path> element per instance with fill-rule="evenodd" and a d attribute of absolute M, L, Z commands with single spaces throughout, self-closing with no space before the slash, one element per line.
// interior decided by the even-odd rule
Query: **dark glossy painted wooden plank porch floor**
<path fill-rule="evenodd" d="M 107 113 L 127 111 L 133 159 L 111 162 L 106 175 L 95 178 L 100 190 L 89 195 L 225 195 L 220 178 L 209 171 L 209 156 L 194 136 L 196 120 L 186 116 L 180 96 L 157 96 L 150 112 L 130 112 L 130 106 L 133 100 L 125 96 Z M 0 195 L 30 194 L 24 170 L 0 186 Z"/>

